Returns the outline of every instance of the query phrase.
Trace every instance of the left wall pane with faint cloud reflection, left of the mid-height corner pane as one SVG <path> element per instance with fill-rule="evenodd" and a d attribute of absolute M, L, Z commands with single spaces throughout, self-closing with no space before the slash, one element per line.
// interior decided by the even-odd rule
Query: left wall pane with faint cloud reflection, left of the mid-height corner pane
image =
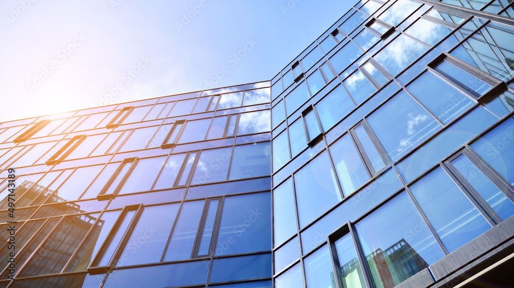
<path fill-rule="evenodd" d="M 232 147 L 201 151 L 191 184 L 226 181 Z"/>

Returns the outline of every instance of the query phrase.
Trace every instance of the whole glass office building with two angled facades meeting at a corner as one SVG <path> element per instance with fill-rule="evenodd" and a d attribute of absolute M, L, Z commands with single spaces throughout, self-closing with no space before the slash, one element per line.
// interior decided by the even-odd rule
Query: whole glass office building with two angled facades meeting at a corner
<path fill-rule="evenodd" d="M 0 287 L 512 285 L 510 2 L 363 0 L 271 81 L 0 124 Z"/>

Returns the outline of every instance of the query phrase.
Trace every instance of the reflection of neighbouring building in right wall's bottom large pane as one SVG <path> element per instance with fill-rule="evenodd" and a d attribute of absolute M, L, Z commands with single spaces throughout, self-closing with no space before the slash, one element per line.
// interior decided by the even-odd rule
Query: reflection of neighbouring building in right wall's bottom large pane
<path fill-rule="evenodd" d="M 403 239 L 382 251 L 376 249 L 366 256 L 377 287 L 391 288 L 428 267 L 427 262 Z"/>

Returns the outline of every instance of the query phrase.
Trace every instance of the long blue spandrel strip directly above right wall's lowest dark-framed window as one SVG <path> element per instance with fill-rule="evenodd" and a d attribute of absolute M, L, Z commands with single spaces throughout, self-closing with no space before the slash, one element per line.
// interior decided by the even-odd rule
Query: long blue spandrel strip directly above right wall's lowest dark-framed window
<path fill-rule="evenodd" d="M 389 170 L 367 187 L 346 200 L 331 213 L 302 232 L 302 251 L 307 253 L 326 239 L 326 236 L 346 223 L 354 221 L 402 187 L 394 170 Z"/>

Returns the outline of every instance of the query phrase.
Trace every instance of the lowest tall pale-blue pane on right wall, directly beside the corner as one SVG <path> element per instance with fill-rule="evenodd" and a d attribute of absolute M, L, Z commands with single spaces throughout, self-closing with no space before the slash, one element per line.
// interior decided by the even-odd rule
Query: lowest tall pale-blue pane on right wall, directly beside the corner
<path fill-rule="evenodd" d="M 273 190 L 273 238 L 275 247 L 297 232 L 292 179 Z M 278 272 L 278 270 L 276 270 Z"/>

